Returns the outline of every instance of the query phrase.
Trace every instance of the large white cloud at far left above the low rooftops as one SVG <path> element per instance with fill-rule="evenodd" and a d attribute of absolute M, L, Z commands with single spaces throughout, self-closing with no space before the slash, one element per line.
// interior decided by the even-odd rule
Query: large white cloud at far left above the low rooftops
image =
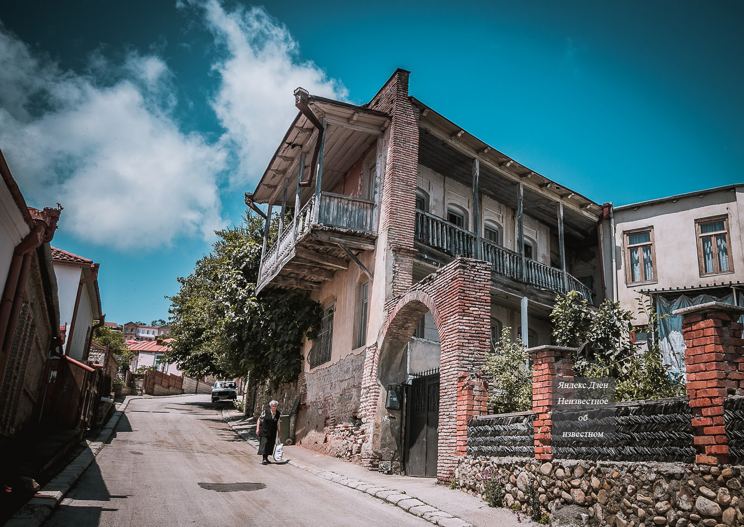
<path fill-rule="evenodd" d="M 0 147 L 27 201 L 62 203 L 61 229 L 118 249 L 211 239 L 224 150 L 179 129 L 160 58 L 93 61 L 62 71 L 0 26 Z"/>

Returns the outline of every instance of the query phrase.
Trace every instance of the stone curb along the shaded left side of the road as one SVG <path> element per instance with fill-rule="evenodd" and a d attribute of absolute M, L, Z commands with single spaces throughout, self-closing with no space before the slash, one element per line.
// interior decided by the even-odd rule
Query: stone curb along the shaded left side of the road
<path fill-rule="evenodd" d="M 179 394 L 179 395 L 164 395 L 161 397 L 185 397 L 186 395 L 199 395 L 199 394 Z M 65 467 L 51 482 L 48 482 L 44 488 L 36 492 L 31 500 L 23 505 L 16 514 L 10 520 L 7 520 L 4 527 L 39 527 L 42 523 L 49 519 L 54 509 L 60 504 L 62 499 L 70 490 L 72 485 L 77 482 L 77 479 L 83 475 L 89 464 L 96 458 L 96 456 L 103 450 L 103 446 L 106 441 L 113 435 L 116 425 L 119 423 L 119 419 L 124 415 L 126 407 L 129 406 L 129 402 L 138 399 L 154 399 L 152 395 L 134 395 L 127 396 L 123 402 L 117 405 L 114 415 L 109 418 L 106 422 L 106 426 L 100 429 L 100 432 L 94 441 L 90 442 L 77 458 L 75 458 L 70 464 Z"/>

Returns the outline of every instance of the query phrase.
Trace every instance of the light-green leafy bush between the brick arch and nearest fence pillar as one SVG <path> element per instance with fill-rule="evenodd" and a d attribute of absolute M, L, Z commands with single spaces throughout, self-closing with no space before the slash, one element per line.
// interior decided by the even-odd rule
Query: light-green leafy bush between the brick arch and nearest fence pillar
<path fill-rule="evenodd" d="M 488 406 L 497 414 L 527 412 L 532 409 L 532 368 L 522 339 L 511 341 L 511 328 L 501 331 L 493 352 L 488 354 L 483 372 L 493 381 Z"/>

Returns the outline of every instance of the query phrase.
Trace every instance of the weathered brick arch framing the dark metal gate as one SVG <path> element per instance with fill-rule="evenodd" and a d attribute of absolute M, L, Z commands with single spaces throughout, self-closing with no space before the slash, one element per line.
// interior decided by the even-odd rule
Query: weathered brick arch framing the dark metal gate
<path fill-rule="evenodd" d="M 388 367 L 386 350 L 400 353 L 429 310 L 437 324 L 441 350 L 437 479 L 449 481 L 458 456 L 466 453 L 467 421 L 487 410 L 486 386 L 478 378 L 478 370 L 490 351 L 490 266 L 456 258 L 409 287 L 391 304 L 394 307 L 377 341 L 381 344 L 374 357 L 376 363 L 371 365 L 374 374 L 367 378 L 379 386 L 378 372 Z M 379 388 L 378 392 L 385 393 Z M 385 401 L 378 397 L 376 402 L 379 416 L 384 413 Z M 381 427 L 382 420 L 370 424 Z"/>

